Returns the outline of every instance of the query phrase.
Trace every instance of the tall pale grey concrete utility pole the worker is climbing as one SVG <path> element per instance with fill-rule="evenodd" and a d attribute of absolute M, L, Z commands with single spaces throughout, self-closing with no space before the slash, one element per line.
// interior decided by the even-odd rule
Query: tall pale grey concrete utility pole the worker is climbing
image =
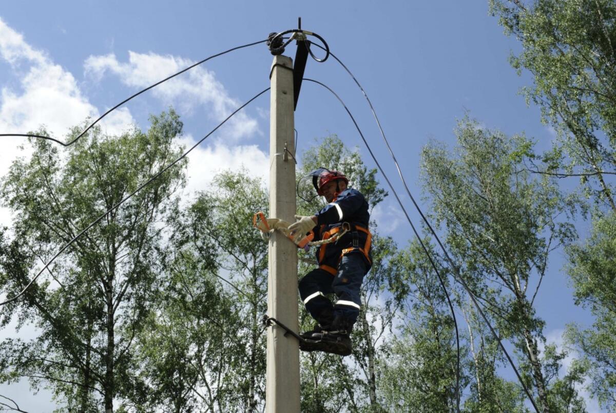
<path fill-rule="evenodd" d="M 295 222 L 293 61 L 274 56 L 270 71 L 270 217 Z M 269 244 L 267 314 L 298 331 L 298 252 L 280 231 Z M 265 412 L 299 413 L 299 345 L 272 324 L 267 329 Z"/>

